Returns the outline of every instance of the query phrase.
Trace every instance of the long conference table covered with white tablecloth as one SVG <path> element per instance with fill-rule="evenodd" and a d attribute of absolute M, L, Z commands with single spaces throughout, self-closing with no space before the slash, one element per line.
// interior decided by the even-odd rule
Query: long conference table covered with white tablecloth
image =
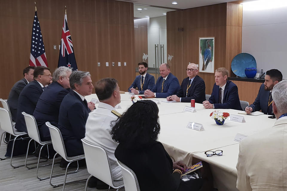
<path fill-rule="evenodd" d="M 126 92 L 121 94 L 121 107 L 117 111 L 123 113 L 132 105 L 132 95 Z M 86 96 L 86 100 L 96 98 L 96 94 Z M 166 100 L 165 98 L 154 98 Z M 236 133 L 250 136 L 265 129 L 271 128 L 276 119 L 269 119 L 267 115 L 251 116 L 238 114 L 238 110 L 220 109 L 234 115 L 244 116 L 245 123 L 225 120 L 224 125 L 216 125 L 209 114 L 215 109 L 204 109 L 202 104 L 196 103 L 197 112 L 183 111 L 184 106 L 190 103 L 165 103 L 160 102 L 159 121 L 161 131 L 158 136 L 169 155 L 175 160 L 182 160 L 187 165 L 192 164 L 192 159 L 197 158 L 210 164 L 215 186 L 219 191 L 237 191 L 236 164 L 238 160 L 239 143 L 234 141 Z M 98 104 L 96 104 L 97 107 Z M 187 128 L 188 122 L 200 123 L 204 131 Z M 262 125 L 264 124 L 264 125 Z M 223 156 L 206 157 L 204 151 L 223 150 Z"/>

